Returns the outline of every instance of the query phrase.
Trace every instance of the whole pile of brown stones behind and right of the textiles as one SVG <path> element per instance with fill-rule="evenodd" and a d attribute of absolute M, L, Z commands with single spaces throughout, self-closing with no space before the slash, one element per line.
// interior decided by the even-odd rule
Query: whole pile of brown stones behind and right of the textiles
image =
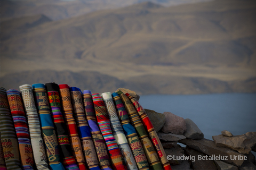
<path fill-rule="evenodd" d="M 128 89 L 119 89 L 129 91 Z M 132 96 L 139 99 L 134 91 Z M 213 140 L 204 139 L 203 132 L 189 118 L 171 112 L 157 113 L 145 109 L 157 131 L 173 170 L 176 169 L 256 169 L 256 132 L 233 135 L 224 130 Z M 182 143 L 186 147 L 181 147 Z"/>

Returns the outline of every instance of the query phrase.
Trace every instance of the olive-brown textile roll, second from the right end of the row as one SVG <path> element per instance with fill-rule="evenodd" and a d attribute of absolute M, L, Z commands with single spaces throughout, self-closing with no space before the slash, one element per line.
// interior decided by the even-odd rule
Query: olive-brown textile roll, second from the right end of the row
<path fill-rule="evenodd" d="M 140 142 L 142 143 L 142 147 L 148 159 L 149 168 L 156 170 L 163 169 L 161 163 L 159 162 L 155 148 L 153 147 L 151 141 L 149 140 L 148 134 L 144 129 L 144 126 L 140 121 L 140 117 L 138 116 L 138 113 L 133 107 L 131 101 L 129 100 L 129 98 L 127 98 L 127 96 L 125 96 L 125 94 L 123 94 L 122 91 L 117 91 L 117 94 L 122 99 L 124 107 L 130 117 L 131 124 L 135 128 L 140 139 Z"/>

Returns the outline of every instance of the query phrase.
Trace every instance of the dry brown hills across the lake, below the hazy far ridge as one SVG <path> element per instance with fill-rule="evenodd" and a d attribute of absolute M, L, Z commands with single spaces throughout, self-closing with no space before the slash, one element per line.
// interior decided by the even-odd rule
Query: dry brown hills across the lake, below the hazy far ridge
<path fill-rule="evenodd" d="M 230 0 L 142 3 L 59 21 L 45 15 L 6 19 L 0 85 L 39 80 L 28 74 L 42 82 L 94 84 L 70 81 L 86 71 L 140 94 L 255 92 L 255 21 L 255 1 Z"/>

